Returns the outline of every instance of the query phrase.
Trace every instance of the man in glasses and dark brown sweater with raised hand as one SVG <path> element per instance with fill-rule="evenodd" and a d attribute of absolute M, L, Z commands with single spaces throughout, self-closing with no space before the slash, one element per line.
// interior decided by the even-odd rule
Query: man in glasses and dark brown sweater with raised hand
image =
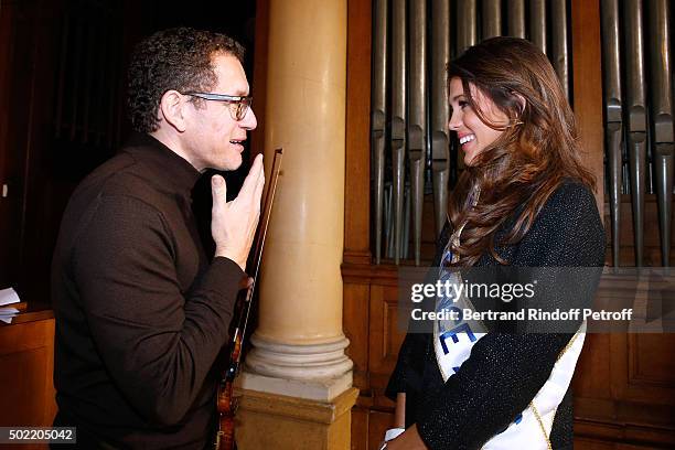
<path fill-rule="evenodd" d="M 256 128 L 242 58 L 232 39 L 184 28 L 141 42 L 128 93 L 139 133 L 68 203 L 52 268 L 54 424 L 77 427 L 81 448 L 212 443 L 214 362 L 260 213 L 261 156 L 229 203 L 212 178 L 212 260 L 191 190 L 207 168 L 237 169 Z"/>

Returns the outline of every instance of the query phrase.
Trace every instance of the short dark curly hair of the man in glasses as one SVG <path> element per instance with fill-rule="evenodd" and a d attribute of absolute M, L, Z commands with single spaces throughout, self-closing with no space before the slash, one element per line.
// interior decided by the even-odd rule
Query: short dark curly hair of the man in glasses
<path fill-rule="evenodd" d="M 239 62 L 244 60 L 244 47 L 238 42 L 211 31 L 174 28 L 141 41 L 129 64 L 127 105 L 133 129 L 157 131 L 159 104 L 167 90 L 212 89 L 217 83 L 212 56 L 218 52 L 233 55 Z"/>

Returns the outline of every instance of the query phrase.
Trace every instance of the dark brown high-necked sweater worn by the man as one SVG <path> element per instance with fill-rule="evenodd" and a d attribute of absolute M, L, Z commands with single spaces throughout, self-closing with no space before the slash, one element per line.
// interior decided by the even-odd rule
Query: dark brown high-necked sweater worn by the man
<path fill-rule="evenodd" d="M 81 448 L 203 448 L 242 269 L 210 261 L 200 173 L 137 136 L 73 194 L 52 267 L 55 424 Z M 73 448 L 69 446 L 68 448 Z"/>

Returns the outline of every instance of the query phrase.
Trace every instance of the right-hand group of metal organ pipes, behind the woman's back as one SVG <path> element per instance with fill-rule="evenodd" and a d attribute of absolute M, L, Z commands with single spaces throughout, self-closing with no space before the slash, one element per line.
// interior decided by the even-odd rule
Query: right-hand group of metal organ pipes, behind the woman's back
<path fill-rule="evenodd" d="M 620 265 L 622 193 L 631 194 L 635 266 L 644 265 L 644 205 L 649 192 L 656 194 L 661 265 L 669 266 L 675 158 L 671 8 L 668 0 L 602 0 L 601 3 L 614 266 Z"/>

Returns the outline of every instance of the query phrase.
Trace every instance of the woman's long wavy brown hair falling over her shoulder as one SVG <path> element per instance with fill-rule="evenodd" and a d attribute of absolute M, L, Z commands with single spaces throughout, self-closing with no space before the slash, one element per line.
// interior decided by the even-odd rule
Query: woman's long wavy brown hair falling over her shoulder
<path fill-rule="evenodd" d="M 473 266 L 485 251 L 506 264 L 495 245 L 513 245 L 529 231 L 537 214 L 565 179 L 591 190 L 596 179 L 581 165 L 572 110 L 547 57 L 528 41 L 493 38 L 470 47 L 448 66 L 448 82 L 462 81 L 464 97 L 489 127 L 504 132 L 467 167 L 450 194 L 449 218 L 465 222 L 454 247 L 458 266 Z M 510 119 L 507 127 L 490 124 L 471 95 L 478 88 Z M 525 100 L 523 104 L 523 99 Z M 521 124 L 522 122 L 522 124 Z M 480 188 L 471 207 L 469 192 Z M 510 229 L 495 233 L 510 218 Z"/>

